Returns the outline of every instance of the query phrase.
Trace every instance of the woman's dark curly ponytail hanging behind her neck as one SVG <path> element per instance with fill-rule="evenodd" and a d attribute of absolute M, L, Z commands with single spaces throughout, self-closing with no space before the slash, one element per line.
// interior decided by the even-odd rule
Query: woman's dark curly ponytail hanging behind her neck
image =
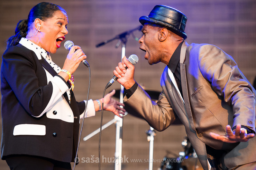
<path fill-rule="evenodd" d="M 11 36 L 7 40 L 7 46 L 6 49 L 8 49 L 10 46 L 17 45 L 22 37 L 26 37 L 28 32 L 28 20 L 20 20 L 17 24 L 15 35 Z"/>

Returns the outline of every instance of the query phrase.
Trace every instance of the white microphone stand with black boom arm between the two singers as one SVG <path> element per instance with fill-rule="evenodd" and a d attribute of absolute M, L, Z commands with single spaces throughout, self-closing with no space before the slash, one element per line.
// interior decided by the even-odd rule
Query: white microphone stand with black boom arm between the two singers
<path fill-rule="evenodd" d="M 132 32 L 139 30 L 141 31 L 141 29 L 143 28 L 143 26 L 138 26 L 135 29 L 123 32 L 121 34 L 116 35 L 114 38 L 103 41 L 99 44 L 96 45 L 96 47 L 100 47 L 102 45 L 105 45 L 113 40 L 118 39 L 118 42 L 116 44 L 116 48 L 119 47 L 119 45 L 122 45 L 122 53 L 121 53 L 121 60 L 123 59 L 123 57 L 125 56 L 125 50 L 126 50 L 126 42 L 128 39 L 128 36 L 130 34 L 132 34 Z M 138 41 L 138 40 L 137 40 Z M 120 89 L 120 103 L 124 103 L 124 86 L 121 85 L 121 89 Z M 122 106 L 121 106 L 122 107 Z M 125 114 L 126 115 L 126 114 Z M 125 116 L 124 115 L 124 116 Z M 124 117 L 122 116 L 122 117 Z M 123 125 L 123 119 L 118 117 L 117 115 L 115 115 L 115 118 L 112 119 L 111 121 L 109 121 L 107 124 L 102 126 L 102 130 L 107 128 L 108 126 L 110 126 L 111 124 L 115 123 L 116 124 L 116 152 L 115 152 L 115 170 L 121 170 L 121 163 L 122 163 L 122 125 Z M 83 140 L 86 141 L 89 138 L 91 138 L 92 136 L 96 135 L 97 133 L 100 132 L 100 128 L 95 130 L 94 132 L 92 132 L 91 134 L 89 134 L 88 136 L 84 137 Z"/>

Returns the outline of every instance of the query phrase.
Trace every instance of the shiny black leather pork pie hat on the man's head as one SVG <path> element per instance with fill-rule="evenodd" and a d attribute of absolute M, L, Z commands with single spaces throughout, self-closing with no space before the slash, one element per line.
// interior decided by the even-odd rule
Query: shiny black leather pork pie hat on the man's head
<path fill-rule="evenodd" d="M 163 26 L 177 35 L 180 35 L 184 40 L 187 34 L 184 32 L 187 21 L 186 15 L 179 10 L 164 5 L 156 5 L 148 16 L 139 18 L 139 22 L 144 25 L 145 23 L 156 24 Z"/>

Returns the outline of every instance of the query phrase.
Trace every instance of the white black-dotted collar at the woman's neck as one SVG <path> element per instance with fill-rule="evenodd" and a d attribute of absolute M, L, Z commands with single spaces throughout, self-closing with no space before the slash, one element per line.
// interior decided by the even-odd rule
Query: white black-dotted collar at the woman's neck
<path fill-rule="evenodd" d="M 38 45 L 36 45 L 35 43 L 31 42 L 26 38 L 21 38 L 19 43 L 28 48 L 29 50 L 34 51 L 36 53 L 38 60 L 41 60 L 42 56 L 44 57 L 44 59 L 46 59 L 47 52 L 42 47 L 39 47 Z"/>

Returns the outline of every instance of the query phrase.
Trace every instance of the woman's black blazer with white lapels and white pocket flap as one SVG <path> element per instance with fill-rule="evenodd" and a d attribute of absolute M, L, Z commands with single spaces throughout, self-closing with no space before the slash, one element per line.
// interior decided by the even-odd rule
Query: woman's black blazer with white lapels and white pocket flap
<path fill-rule="evenodd" d="M 85 103 L 76 102 L 72 91 L 69 103 L 68 85 L 43 57 L 21 44 L 4 52 L 1 159 L 25 154 L 74 161 Z"/>

